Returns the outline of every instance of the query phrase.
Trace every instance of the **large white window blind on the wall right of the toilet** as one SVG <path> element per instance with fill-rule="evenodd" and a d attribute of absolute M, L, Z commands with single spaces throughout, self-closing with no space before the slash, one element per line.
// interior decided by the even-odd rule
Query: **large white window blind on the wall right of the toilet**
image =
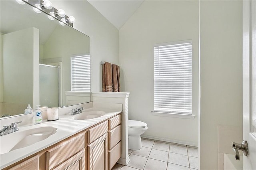
<path fill-rule="evenodd" d="M 192 42 L 154 45 L 154 111 L 192 114 Z"/>

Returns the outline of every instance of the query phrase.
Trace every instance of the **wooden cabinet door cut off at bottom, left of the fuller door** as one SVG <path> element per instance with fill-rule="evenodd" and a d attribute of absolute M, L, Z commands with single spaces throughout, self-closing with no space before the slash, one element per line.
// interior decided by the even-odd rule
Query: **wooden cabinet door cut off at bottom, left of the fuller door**
<path fill-rule="evenodd" d="M 82 149 L 53 170 L 84 170 L 84 156 L 84 149 Z"/>

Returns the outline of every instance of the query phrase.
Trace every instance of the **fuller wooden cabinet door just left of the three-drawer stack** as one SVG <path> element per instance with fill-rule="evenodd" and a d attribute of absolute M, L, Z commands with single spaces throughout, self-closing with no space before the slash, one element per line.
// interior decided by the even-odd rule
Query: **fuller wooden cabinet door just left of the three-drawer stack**
<path fill-rule="evenodd" d="M 108 134 L 104 134 L 88 145 L 88 170 L 106 170 L 107 137 Z"/>

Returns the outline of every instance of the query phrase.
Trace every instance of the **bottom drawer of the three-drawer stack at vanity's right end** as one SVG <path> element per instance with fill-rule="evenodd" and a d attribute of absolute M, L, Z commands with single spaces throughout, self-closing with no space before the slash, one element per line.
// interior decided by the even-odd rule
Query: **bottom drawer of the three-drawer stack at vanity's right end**
<path fill-rule="evenodd" d="M 109 157 L 109 169 L 113 168 L 113 166 L 116 164 L 118 159 L 121 157 L 121 152 L 122 152 L 122 142 L 120 141 L 114 148 L 112 148 L 108 152 L 108 157 Z"/>

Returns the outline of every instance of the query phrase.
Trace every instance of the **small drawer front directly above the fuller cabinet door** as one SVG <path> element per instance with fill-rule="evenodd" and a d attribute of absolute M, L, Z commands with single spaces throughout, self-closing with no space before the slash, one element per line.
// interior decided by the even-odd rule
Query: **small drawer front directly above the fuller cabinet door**
<path fill-rule="evenodd" d="M 108 121 L 105 121 L 101 123 L 100 125 L 97 125 L 94 128 L 91 128 L 88 130 L 88 143 L 93 142 L 103 134 L 108 132 Z"/>

